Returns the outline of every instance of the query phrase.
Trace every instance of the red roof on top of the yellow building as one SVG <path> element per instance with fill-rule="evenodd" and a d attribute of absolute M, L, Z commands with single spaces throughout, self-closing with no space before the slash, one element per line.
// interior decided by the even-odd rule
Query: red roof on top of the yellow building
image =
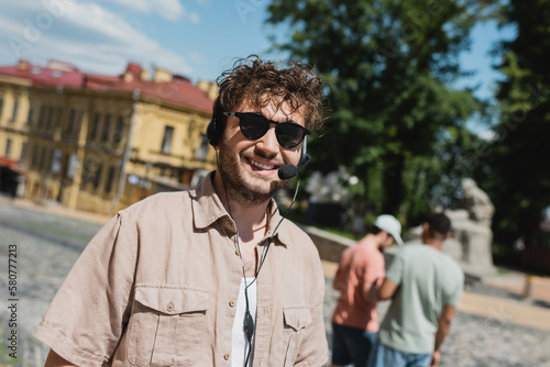
<path fill-rule="evenodd" d="M 123 75 L 106 76 L 81 73 L 76 67 L 57 60 L 51 62 L 48 67 L 34 66 L 26 60 L 20 60 L 16 66 L 0 67 L 0 75 L 30 79 L 36 87 L 63 86 L 68 89 L 130 93 L 139 89 L 142 96 L 162 102 L 204 113 L 212 112 L 212 100 L 187 78 L 174 76 L 172 81 L 163 82 L 141 80 L 142 67 L 133 63 L 128 64 L 127 73 L 132 75 L 132 81 L 125 81 Z"/>

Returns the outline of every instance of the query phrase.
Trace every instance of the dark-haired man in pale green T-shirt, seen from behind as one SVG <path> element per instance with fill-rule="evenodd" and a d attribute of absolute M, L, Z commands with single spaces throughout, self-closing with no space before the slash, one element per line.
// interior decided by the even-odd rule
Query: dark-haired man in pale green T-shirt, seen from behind
<path fill-rule="evenodd" d="M 374 299 L 393 299 L 380 327 L 376 367 L 439 365 L 464 283 L 460 266 L 441 252 L 450 230 L 447 215 L 431 214 L 424 244 L 405 246 L 392 262 Z"/>

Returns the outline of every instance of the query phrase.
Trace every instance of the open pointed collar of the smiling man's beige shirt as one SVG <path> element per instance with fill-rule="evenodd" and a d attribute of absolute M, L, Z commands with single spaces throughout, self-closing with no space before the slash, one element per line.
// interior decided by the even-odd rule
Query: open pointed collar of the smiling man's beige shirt
<path fill-rule="evenodd" d="M 206 229 L 208 226 L 211 226 L 218 220 L 229 220 L 231 221 L 234 231 L 233 219 L 229 215 L 228 211 L 221 203 L 220 197 L 213 189 L 213 175 L 215 171 L 208 174 L 205 180 L 200 185 L 198 185 L 195 190 L 190 191 L 195 227 Z M 277 229 L 277 224 L 280 222 L 280 219 L 283 216 L 280 215 L 277 209 L 277 203 L 273 198 L 270 199 L 270 203 L 267 204 L 267 213 L 271 218 L 270 227 L 265 237 L 270 238 L 273 232 L 276 230 L 274 238 L 277 238 L 280 244 L 288 246 L 288 223 L 285 223 L 286 220 L 283 220 Z"/>

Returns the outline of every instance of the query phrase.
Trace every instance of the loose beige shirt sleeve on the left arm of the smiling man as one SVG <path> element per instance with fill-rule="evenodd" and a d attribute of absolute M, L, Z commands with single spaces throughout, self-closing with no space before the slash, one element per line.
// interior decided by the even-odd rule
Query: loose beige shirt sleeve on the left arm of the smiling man
<path fill-rule="evenodd" d="M 99 366 L 114 353 L 128 322 L 135 269 L 123 216 L 91 240 L 52 301 L 34 336 L 79 366 Z"/>

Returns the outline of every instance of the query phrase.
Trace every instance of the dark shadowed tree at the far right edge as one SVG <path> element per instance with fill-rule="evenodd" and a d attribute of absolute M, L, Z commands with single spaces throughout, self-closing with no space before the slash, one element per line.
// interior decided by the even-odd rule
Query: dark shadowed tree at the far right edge
<path fill-rule="evenodd" d="M 495 198 L 495 237 L 512 243 L 550 205 L 550 1 L 512 0 L 503 25 L 517 36 L 501 44 L 506 79 L 499 84 L 501 116 L 488 160 Z"/>

